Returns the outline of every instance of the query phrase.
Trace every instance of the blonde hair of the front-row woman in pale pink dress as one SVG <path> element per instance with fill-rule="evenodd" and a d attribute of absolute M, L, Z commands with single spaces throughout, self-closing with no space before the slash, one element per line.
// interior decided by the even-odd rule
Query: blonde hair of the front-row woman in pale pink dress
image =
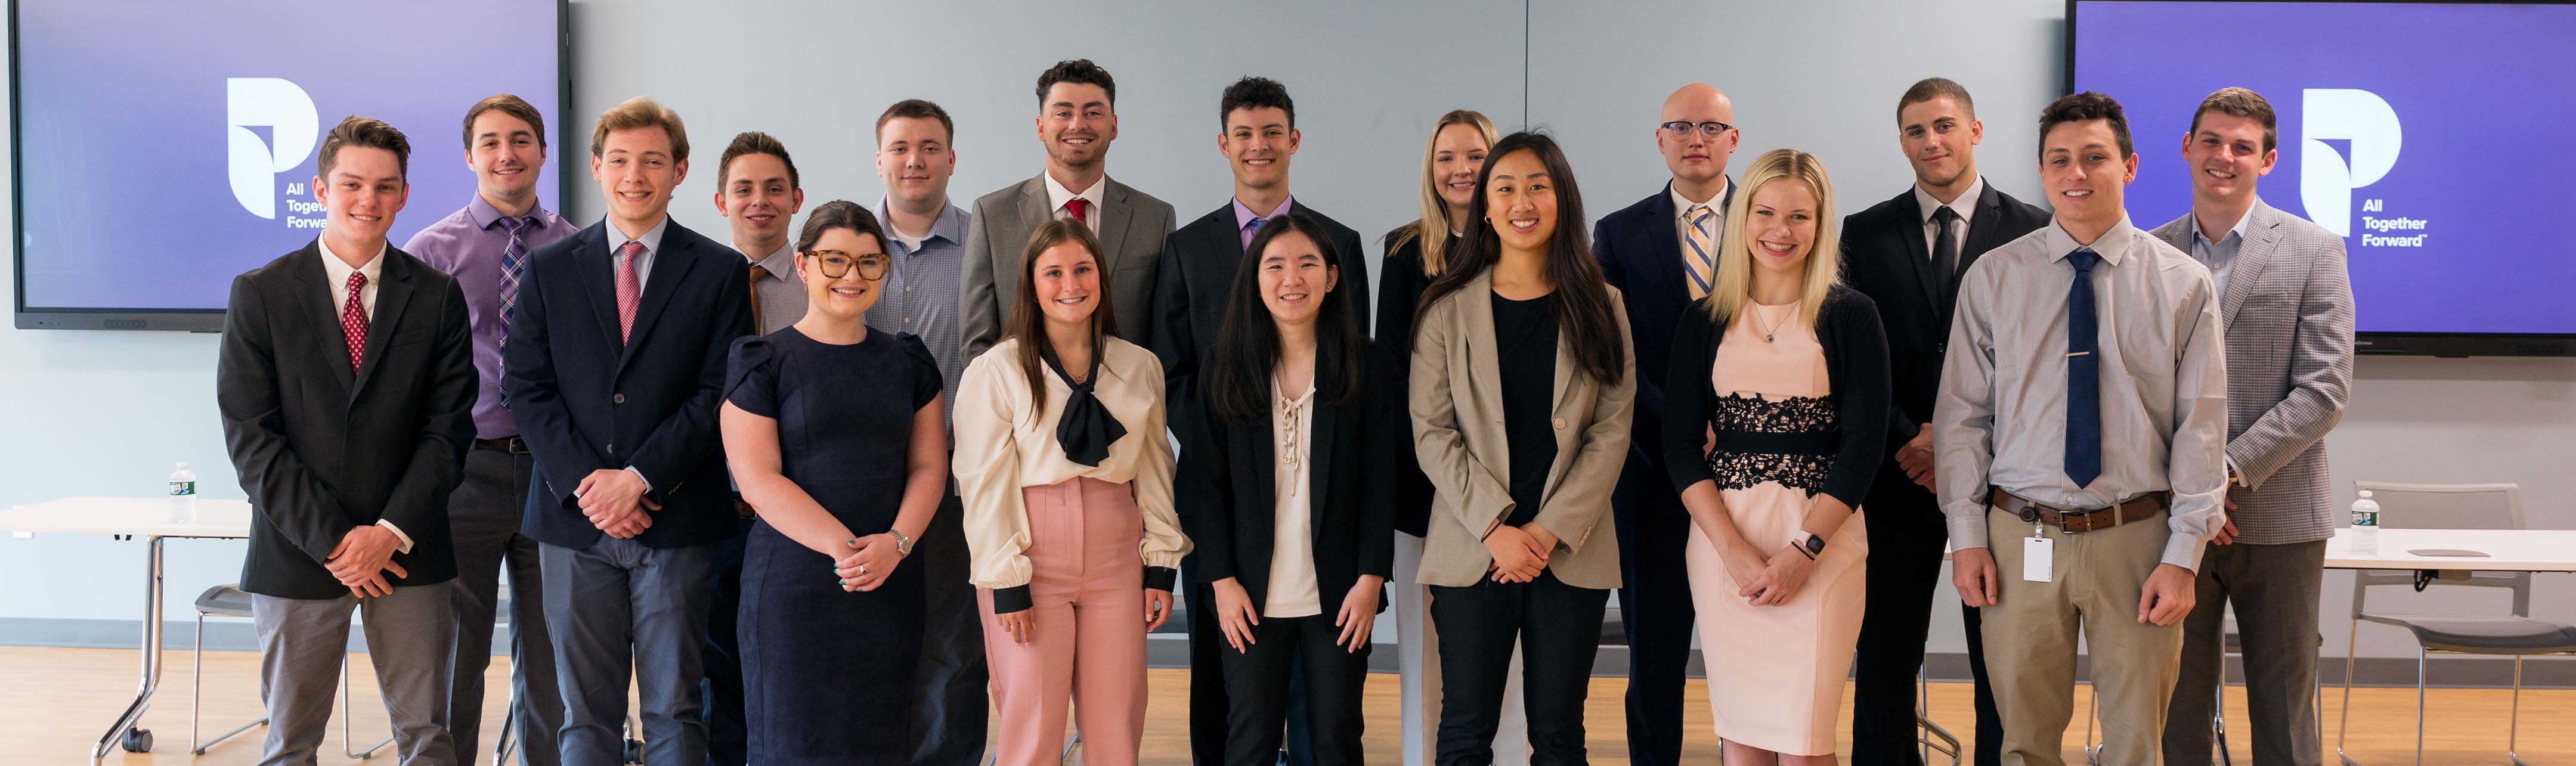
<path fill-rule="evenodd" d="M 1708 289 L 1708 315 L 1734 317 L 1754 294 L 1752 219 L 1754 193 L 1772 181 L 1806 183 L 1816 193 L 1816 240 L 1806 248 L 1806 286 L 1798 291 L 1798 322 L 1816 325 L 1824 294 L 1842 284 L 1842 232 L 1834 217 L 1834 183 L 1824 160 L 1798 150 L 1770 150 L 1744 168 L 1744 188 L 1726 206 L 1726 237 L 1718 242 L 1718 284 Z"/>

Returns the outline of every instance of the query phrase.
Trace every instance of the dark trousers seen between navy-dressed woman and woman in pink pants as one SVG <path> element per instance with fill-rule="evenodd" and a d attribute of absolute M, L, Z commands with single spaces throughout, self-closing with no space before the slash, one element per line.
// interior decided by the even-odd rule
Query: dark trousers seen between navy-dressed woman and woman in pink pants
<path fill-rule="evenodd" d="M 940 498 L 938 516 L 912 542 L 912 565 L 922 567 L 922 665 L 912 702 L 912 763 L 984 763 L 984 622 L 976 616 L 974 583 L 966 583 L 966 508 L 958 495 Z"/>

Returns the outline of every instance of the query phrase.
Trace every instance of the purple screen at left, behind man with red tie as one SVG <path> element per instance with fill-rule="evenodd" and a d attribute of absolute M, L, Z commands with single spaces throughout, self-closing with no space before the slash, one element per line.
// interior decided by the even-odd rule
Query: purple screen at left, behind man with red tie
<path fill-rule="evenodd" d="M 314 157 L 350 113 L 412 142 L 394 245 L 474 196 L 464 111 L 492 93 L 549 116 L 551 204 L 564 152 L 551 0 L 15 8 L 28 309 L 222 309 L 234 273 L 319 232 Z"/>

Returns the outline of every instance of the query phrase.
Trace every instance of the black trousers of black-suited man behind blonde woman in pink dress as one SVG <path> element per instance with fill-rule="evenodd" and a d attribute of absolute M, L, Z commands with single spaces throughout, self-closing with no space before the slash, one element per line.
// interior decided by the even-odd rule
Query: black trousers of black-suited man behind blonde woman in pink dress
<path fill-rule="evenodd" d="M 1919 766 L 1914 727 L 1914 673 L 1924 663 L 1932 629 L 1932 596 L 1947 583 L 1940 575 L 1950 526 L 1929 490 L 1888 462 L 1870 495 L 1868 604 L 1860 614 L 1860 645 L 1852 660 L 1852 763 Z M 2004 717 L 1994 712 L 1986 686 L 1986 650 L 1976 609 L 1960 606 L 1968 624 L 1968 673 L 1976 676 L 1976 766 L 2004 761 Z"/>

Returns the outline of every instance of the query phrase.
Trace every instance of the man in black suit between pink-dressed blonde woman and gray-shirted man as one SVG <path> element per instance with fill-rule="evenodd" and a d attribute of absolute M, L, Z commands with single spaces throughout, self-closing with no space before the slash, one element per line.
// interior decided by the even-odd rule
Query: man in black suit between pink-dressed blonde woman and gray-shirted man
<path fill-rule="evenodd" d="M 1896 101 L 1896 144 L 1914 165 L 1914 188 L 1842 219 L 1842 281 L 1878 302 L 1888 328 L 1891 454 L 1860 511 L 1870 513 L 1870 598 L 1860 619 L 1852 691 L 1852 761 L 1922 763 L 1914 748 L 1914 673 L 1932 627 L 1942 526 L 1932 498 L 1932 395 L 1958 276 L 1976 255 L 2048 224 L 2048 209 L 2012 199 L 1976 175 L 1976 119 L 1968 88 L 1929 77 Z M 1986 689 L 1986 653 L 1973 606 L 1968 673 L 1976 676 L 1976 763 L 2002 761 L 2004 720 Z"/>

